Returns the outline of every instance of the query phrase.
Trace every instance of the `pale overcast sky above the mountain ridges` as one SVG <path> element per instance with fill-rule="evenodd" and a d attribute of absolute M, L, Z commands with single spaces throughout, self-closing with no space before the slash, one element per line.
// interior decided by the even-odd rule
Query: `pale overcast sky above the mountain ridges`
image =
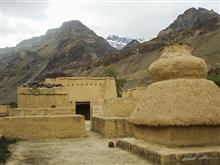
<path fill-rule="evenodd" d="M 27 0 L 29 1 L 29 0 Z M 19 2 L 16 2 L 16 4 Z M 4 42 L 0 47 L 15 46 L 29 37 L 43 35 L 47 29 L 65 21 L 80 20 L 98 35 L 110 34 L 152 38 L 190 7 L 214 9 L 220 13 L 219 1 L 71 1 L 13 2 L 3 10 Z"/>

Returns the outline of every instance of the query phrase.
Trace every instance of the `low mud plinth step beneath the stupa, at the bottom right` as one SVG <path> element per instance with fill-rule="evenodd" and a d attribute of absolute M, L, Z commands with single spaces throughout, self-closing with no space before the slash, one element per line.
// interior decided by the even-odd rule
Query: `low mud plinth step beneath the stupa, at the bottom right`
<path fill-rule="evenodd" d="M 124 138 L 116 146 L 159 165 L 219 165 L 220 147 L 168 148 L 135 138 Z"/>

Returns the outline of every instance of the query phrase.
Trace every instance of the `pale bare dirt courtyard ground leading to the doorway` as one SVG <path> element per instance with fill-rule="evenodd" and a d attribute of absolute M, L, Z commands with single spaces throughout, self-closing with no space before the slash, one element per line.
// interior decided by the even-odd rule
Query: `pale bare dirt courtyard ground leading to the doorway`
<path fill-rule="evenodd" d="M 145 160 L 118 148 L 109 148 L 106 139 L 89 131 L 87 137 L 42 141 L 19 141 L 10 146 L 7 165 L 147 165 Z"/>

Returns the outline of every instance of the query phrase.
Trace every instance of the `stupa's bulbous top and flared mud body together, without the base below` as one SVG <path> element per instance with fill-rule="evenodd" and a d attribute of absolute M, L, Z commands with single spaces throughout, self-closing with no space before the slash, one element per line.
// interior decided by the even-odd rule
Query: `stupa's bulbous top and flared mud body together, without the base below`
<path fill-rule="evenodd" d="M 186 44 L 163 48 L 149 72 L 150 84 L 131 113 L 135 125 L 190 126 L 220 124 L 220 92 L 206 79 L 203 59 L 191 55 Z"/>

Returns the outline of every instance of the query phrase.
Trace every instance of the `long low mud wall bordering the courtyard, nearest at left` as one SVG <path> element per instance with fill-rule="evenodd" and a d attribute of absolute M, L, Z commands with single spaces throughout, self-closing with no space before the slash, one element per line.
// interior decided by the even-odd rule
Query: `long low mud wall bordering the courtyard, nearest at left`
<path fill-rule="evenodd" d="M 85 136 L 80 115 L 0 118 L 0 134 L 18 139 L 74 138 Z"/>

